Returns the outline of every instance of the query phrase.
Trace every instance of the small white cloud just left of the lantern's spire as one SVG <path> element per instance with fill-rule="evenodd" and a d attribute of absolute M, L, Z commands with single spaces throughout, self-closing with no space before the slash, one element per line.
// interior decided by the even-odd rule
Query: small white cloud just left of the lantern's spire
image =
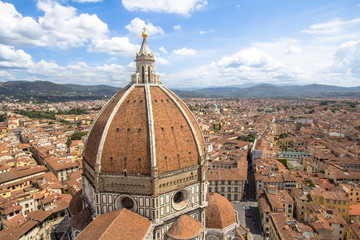
<path fill-rule="evenodd" d="M 88 48 L 89 52 L 107 52 L 111 55 L 135 56 L 139 45 L 130 43 L 127 37 L 113 37 L 111 39 L 94 39 Z"/>

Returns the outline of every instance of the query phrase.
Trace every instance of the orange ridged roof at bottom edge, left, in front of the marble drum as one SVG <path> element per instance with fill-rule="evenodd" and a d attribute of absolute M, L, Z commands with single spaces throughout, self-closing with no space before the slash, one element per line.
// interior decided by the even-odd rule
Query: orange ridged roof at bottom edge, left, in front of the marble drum
<path fill-rule="evenodd" d="M 126 208 L 95 218 L 77 240 L 144 239 L 151 221 Z"/>

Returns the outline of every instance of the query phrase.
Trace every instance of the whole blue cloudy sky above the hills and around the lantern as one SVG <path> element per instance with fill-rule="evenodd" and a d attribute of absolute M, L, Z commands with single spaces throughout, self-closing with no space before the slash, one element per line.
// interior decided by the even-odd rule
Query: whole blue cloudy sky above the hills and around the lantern
<path fill-rule="evenodd" d="M 360 86 L 360 0 L 0 0 L 0 82 Z"/>

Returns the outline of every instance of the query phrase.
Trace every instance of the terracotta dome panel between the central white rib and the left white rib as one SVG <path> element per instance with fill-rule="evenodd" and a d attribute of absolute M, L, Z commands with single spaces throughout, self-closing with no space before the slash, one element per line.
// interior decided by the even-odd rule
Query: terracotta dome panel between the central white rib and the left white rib
<path fill-rule="evenodd" d="M 106 136 L 101 172 L 150 175 L 150 138 L 145 89 L 135 87 L 115 114 Z"/>

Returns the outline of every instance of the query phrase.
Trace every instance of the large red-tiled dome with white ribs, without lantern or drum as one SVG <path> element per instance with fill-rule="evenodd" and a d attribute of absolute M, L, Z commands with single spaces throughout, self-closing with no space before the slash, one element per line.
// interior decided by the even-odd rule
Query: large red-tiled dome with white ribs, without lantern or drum
<path fill-rule="evenodd" d="M 132 84 L 100 111 L 84 160 L 99 173 L 151 175 L 199 163 L 201 130 L 186 105 L 163 85 Z"/>

